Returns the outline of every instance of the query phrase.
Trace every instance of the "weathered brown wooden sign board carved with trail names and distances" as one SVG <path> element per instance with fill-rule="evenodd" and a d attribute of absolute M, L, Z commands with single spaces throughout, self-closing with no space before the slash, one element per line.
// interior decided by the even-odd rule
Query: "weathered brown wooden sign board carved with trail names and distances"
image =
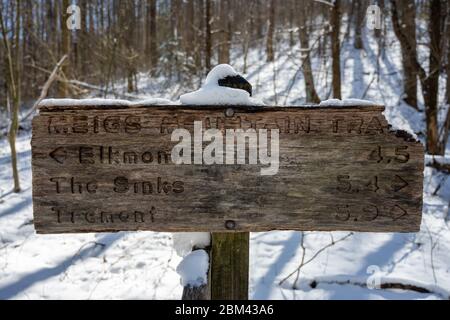
<path fill-rule="evenodd" d="M 383 107 L 228 109 L 41 107 L 32 138 L 36 231 L 419 230 L 423 147 L 393 131 Z M 193 132 L 194 121 L 223 132 L 278 129 L 278 174 L 173 164 L 171 133 Z"/>

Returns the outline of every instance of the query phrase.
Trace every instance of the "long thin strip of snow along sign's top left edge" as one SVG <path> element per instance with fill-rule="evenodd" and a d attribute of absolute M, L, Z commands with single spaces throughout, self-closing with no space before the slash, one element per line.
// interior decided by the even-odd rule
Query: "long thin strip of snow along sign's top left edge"
<path fill-rule="evenodd" d="M 137 101 L 120 99 L 45 99 L 39 103 L 40 107 L 70 107 L 70 106 L 137 106 L 137 105 L 172 105 L 174 102 L 162 98 L 149 98 Z"/>

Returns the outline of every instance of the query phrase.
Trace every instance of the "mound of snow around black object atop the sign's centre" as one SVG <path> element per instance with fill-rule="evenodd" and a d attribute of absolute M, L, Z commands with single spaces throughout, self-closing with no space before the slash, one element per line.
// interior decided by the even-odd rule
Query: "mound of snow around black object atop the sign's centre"
<path fill-rule="evenodd" d="M 213 68 L 206 77 L 205 84 L 197 91 L 186 93 L 180 97 L 181 104 L 186 105 L 264 105 L 253 99 L 241 89 L 219 86 L 219 79 L 236 76 L 238 73 L 228 64 L 220 64 Z"/>

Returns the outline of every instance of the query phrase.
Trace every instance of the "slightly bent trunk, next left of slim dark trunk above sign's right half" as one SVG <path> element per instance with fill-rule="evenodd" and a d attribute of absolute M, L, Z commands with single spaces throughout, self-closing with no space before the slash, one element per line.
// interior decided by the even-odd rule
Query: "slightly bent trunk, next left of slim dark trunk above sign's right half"
<path fill-rule="evenodd" d="M 301 5 L 299 8 L 300 16 L 300 26 L 299 26 L 299 36 L 300 44 L 302 47 L 302 69 L 303 77 L 305 79 L 305 89 L 306 89 L 306 102 L 320 103 L 319 95 L 316 92 L 316 87 L 314 85 L 314 76 L 311 68 L 310 53 L 311 49 L 309 47 L 309 36 L 308 36 L 308 26 L 307 26 L 307 13 L 309 6 L 305 4 Z"/>

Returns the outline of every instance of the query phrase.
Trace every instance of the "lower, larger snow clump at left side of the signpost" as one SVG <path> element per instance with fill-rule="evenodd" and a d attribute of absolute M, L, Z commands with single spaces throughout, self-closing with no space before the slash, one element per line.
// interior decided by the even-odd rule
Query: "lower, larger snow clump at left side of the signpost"
<path fill-rule="evenodd" d="M 177 273 L 183 286 L 199 287 L 207 283 L 209 257 L 205 250 L 195 250 L 178 265 Z"/>

